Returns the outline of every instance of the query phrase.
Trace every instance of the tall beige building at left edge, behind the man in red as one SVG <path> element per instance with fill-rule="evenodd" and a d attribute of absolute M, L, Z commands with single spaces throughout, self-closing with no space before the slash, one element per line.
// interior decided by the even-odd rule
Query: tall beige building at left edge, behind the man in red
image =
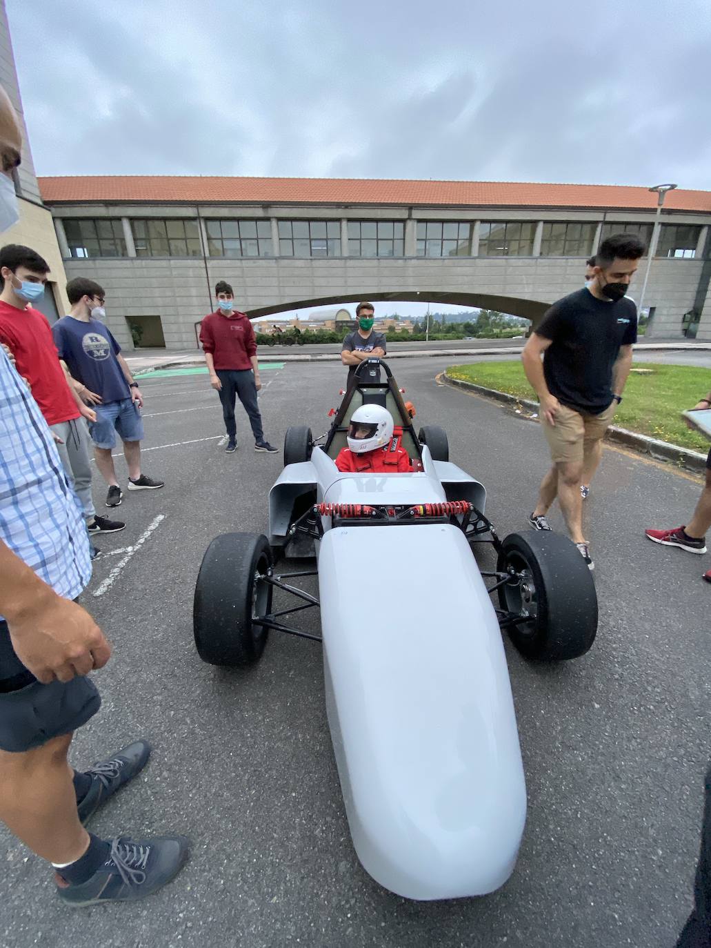
<path fill-rule="evenodd" d="M 45 295 L 41 300 L 34 302 L 33 305 L 36 309 L 42 310 L 50 322 L 54 322 L 58 316 L 64 316 L 69 305 L 64 290 L 66 277 L 62 254 L 52 224 L 52 215 L 42 202 L 34 173 L 22 99 L 20 98 L 20 86 L 17 82 L 15 61 L 12 56 L 5 0 L 0 0 L 0 83 L 9 95 L 9 100 L 20 119 L 23 133 L 22 163 L 12 174 L 18 197 L 20 220 L 2 235 L 2 245 L 24 244 L 31 246 L 33 250 L 36 250 L 45 258 L 50 267 Z"/>

